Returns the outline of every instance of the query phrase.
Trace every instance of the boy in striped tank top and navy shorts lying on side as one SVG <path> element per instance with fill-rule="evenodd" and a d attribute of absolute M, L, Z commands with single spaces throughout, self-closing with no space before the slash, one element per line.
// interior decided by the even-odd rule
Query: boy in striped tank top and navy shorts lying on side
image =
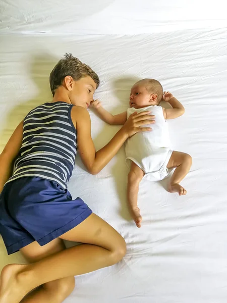
<path fill-rule="evenodd" d="M 123 237 L 67 189 L 77 148 L 86 169 L 97 174 L 129 136 L 150 129 L 141 127 L 149 124 L 149 112 L 133 114 L 96 151 L 87 108 L 98 85 L 89 66 L 66 54 L 50 73 L 52 102 L 25 117 L 0 155 L 0 234 L 9 255 L 20 250 L 31 263 L 4 267 L 1 303 L 19 303 L 33 289 L 23 303 L 61 303 L 74 289 L 74 276 L 126 254 Z M 66 249 L 63 240 L 83 244 Z"/>

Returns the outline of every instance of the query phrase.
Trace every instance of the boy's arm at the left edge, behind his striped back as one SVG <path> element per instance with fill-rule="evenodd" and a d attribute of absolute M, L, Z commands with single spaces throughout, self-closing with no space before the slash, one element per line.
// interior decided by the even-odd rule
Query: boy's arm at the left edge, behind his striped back
<path fill-rule="evenodd" d="M 23 124 L 24 122 L 22 121 L 15 129 L 0 155 L 0 193 L 3 190 L 5 183 L 12 176 L 14 161 L 17 158 L 22 145 Z"/>

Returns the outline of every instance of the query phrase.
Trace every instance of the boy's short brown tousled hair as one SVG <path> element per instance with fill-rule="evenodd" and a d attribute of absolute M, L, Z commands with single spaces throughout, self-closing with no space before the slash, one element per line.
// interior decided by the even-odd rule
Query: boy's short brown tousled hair
<path fill-rule="evenodd" d="M 55 89 L 62 85 L 62 81 L 66 76 L 71 76 L 75 81 L 90 76 L 96 83 L 96 88 L 99 86 L 98 75 L 90 66 L 82 63 L 79 59 L 73 57 L 72 54 L 66 53 L 64 58 L 54 66 L 49 75 L 49 84 L 53 96 Z"/>

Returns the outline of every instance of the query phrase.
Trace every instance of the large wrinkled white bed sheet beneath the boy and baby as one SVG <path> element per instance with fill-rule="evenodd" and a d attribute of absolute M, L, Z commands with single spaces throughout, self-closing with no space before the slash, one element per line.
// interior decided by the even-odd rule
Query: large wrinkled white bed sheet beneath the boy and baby
<path fill-rule="evenodd" d="M 166 182 L 141 182 L 141 229 L 126 207 L 127 167 L 122 148 L 96 176 L 77 157 L 69 184 L 91 209 L 126 239 L 128 252 L 116 266 L 76 278 L 66 303 L 224 303 L 227 295 L 225 29 L 108 36 L 2 35 L 0 140 L 29 110 L 51 99 L 48 76 L 71 52 L 100 76 L 96 97 L 112 113 L 127 109 L 130 86 L 139 78 L 161 81 L 186 113 L 168 121 L 172 147 L 193 158 L 182 182 L 188 194 L 165 190 Z M 117 132 L 90 111 L 96 148 Z M 71 243 L 69 244 L 71 245 Z M 23 262 L 7 256 L 0 241 L 0 267 Z"/>

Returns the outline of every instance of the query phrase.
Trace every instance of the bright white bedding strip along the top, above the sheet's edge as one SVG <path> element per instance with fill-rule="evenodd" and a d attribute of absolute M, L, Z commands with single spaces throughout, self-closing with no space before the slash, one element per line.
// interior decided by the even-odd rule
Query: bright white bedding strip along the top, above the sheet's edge
<path fill-rule="evenodd" d="M 227 26 L 224 0 L 2 0 L 0 32 L 141 34 Z"/>

